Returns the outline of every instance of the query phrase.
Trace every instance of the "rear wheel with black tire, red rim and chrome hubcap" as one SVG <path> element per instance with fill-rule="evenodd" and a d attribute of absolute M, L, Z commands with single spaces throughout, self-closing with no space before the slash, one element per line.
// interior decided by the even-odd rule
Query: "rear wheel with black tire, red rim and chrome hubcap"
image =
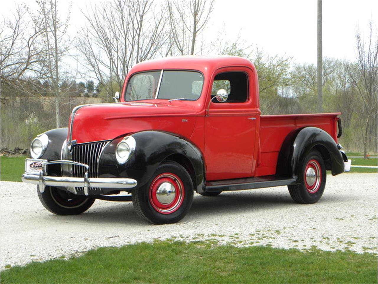
<path fill-rule="evenodd" d="M 291 198 L 297 203 L 315 203 L 323 195 L 327 174 L 319 151 L 311 150 L 302 164 L 301 184 L 288 186 Z"/>

